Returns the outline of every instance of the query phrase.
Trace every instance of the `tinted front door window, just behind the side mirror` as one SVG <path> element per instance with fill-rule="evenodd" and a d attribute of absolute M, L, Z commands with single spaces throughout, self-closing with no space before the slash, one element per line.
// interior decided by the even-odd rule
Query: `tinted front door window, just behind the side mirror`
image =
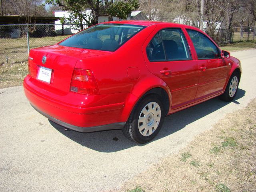
<path fill-rule="evenodd" d="M 187 32 L 194 44 L 198 59 L 220 58 L 220 50 L 208 37 L 194 30 L 187 29 Z"/>

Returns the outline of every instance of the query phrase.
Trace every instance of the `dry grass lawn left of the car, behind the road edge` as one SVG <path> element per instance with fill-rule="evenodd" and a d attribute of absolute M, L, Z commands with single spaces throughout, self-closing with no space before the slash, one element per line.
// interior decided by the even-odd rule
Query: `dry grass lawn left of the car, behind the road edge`
<path fill-rule="evenodd" d="M 56 44 L 67 37 L 68 35 L 30 38 L 30 49 Z M 0 88 L 22 85 L 23 79 L 28 74 L 26 38 L 0 39 L 0 45 Z"/>

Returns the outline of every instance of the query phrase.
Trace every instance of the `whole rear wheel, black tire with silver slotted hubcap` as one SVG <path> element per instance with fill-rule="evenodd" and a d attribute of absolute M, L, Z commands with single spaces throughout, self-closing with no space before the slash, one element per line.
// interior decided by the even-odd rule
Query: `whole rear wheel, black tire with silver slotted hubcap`
<path fill-rule="evenodd" d="M 160 131 L 164 114 L 164 107 L 157 95 L 145 96 L 134 106 L 122 131 L 134 142 L 149 142 Z"/>

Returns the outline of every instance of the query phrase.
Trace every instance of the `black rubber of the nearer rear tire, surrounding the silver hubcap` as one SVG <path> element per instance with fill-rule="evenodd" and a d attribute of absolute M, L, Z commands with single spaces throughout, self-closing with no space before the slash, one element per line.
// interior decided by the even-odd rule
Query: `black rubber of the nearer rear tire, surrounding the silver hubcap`
<path fill-rule="evenodd" d="M 159 122 L 158 123 L 158 126 L 156 127 L 156 129 L 154 130 L 154 125 L 153 126 L 153 131 L 152 131 L 152 134 L 148 135 L 148 136 L 144 136 L 142 135 L 142 133 L 140 132 L 139 128 L 138 128 L 138 120 L 139 120 L 139 117 L 140 117 L 140 114 L 142 113 L 142 110 L 146 107 L 147 104 L 152 104 L 154 105 L 154 102 L 156 104 L 158 104 L 158 106 L 160 107 L 160 112 L 158 112 L 160 114 L 160 120 L 157 121 Z M 156 105 L 157 106 L 157 105 Z M 158 107 L 157 106 L 157 107 Z M 143 113 L 142 113 L 143 114 Z M 141 114 L 141 115 L 142 115 Z M 161 127 L 162 127 L 162 124 L 164 122 L 164 107 L 162 105 L 162 102 L 160 101 L 159 97 L 157 95 L 148 95 L 148 96 L 145 96 L 145 97 L 142 97 L 138 102 L 137 104 L 134 106 L 134 109 L 132 110 L 131 114 L 130 114 L 130 117 L 128 118 L 128 121 L 126 122 L 124 128 L 122 129 L 124 135 L 134 141 L 134 142 L 138 142 L 138 143 L 146 143 L 146 142 L 149 142 L 150 140 L 152 140 L 157 134 L 158 132 L 160 131 Z M 143 115 L 142 115 L 143 116 Z M 154 115 L 153 115 L 154 116 Z M 158 117 L 159 118 L 159 117 Z M 145 120 L 147 118 L 145 117 Z M 150 119 L 150 118 L 148 118 Z M 152 124 L 155 124 L 157 122 L 156 121 L 156 118 L 153 119 L 152 121 Z M 146 123 L 146 122 L 145 122 Z M 150 122 L 149 122 L 150 123 Z M 150 126 L 150 125 L 148 125 Z M 156 124 L 155 124 L 156 126 Z M 145 132 L 145 130 L 144 130 Z M 148 132 L 149 134 L 149 132 Z"/>

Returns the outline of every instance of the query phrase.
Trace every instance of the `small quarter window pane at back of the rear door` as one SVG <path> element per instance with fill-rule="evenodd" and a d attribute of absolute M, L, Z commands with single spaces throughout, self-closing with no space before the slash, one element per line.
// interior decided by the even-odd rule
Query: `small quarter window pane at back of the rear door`
<path fill-rule="evenodd" d="M 150 41 L 146 52 L 150 61 L 165 61 L 164 48 L 159 33 Z"/>

